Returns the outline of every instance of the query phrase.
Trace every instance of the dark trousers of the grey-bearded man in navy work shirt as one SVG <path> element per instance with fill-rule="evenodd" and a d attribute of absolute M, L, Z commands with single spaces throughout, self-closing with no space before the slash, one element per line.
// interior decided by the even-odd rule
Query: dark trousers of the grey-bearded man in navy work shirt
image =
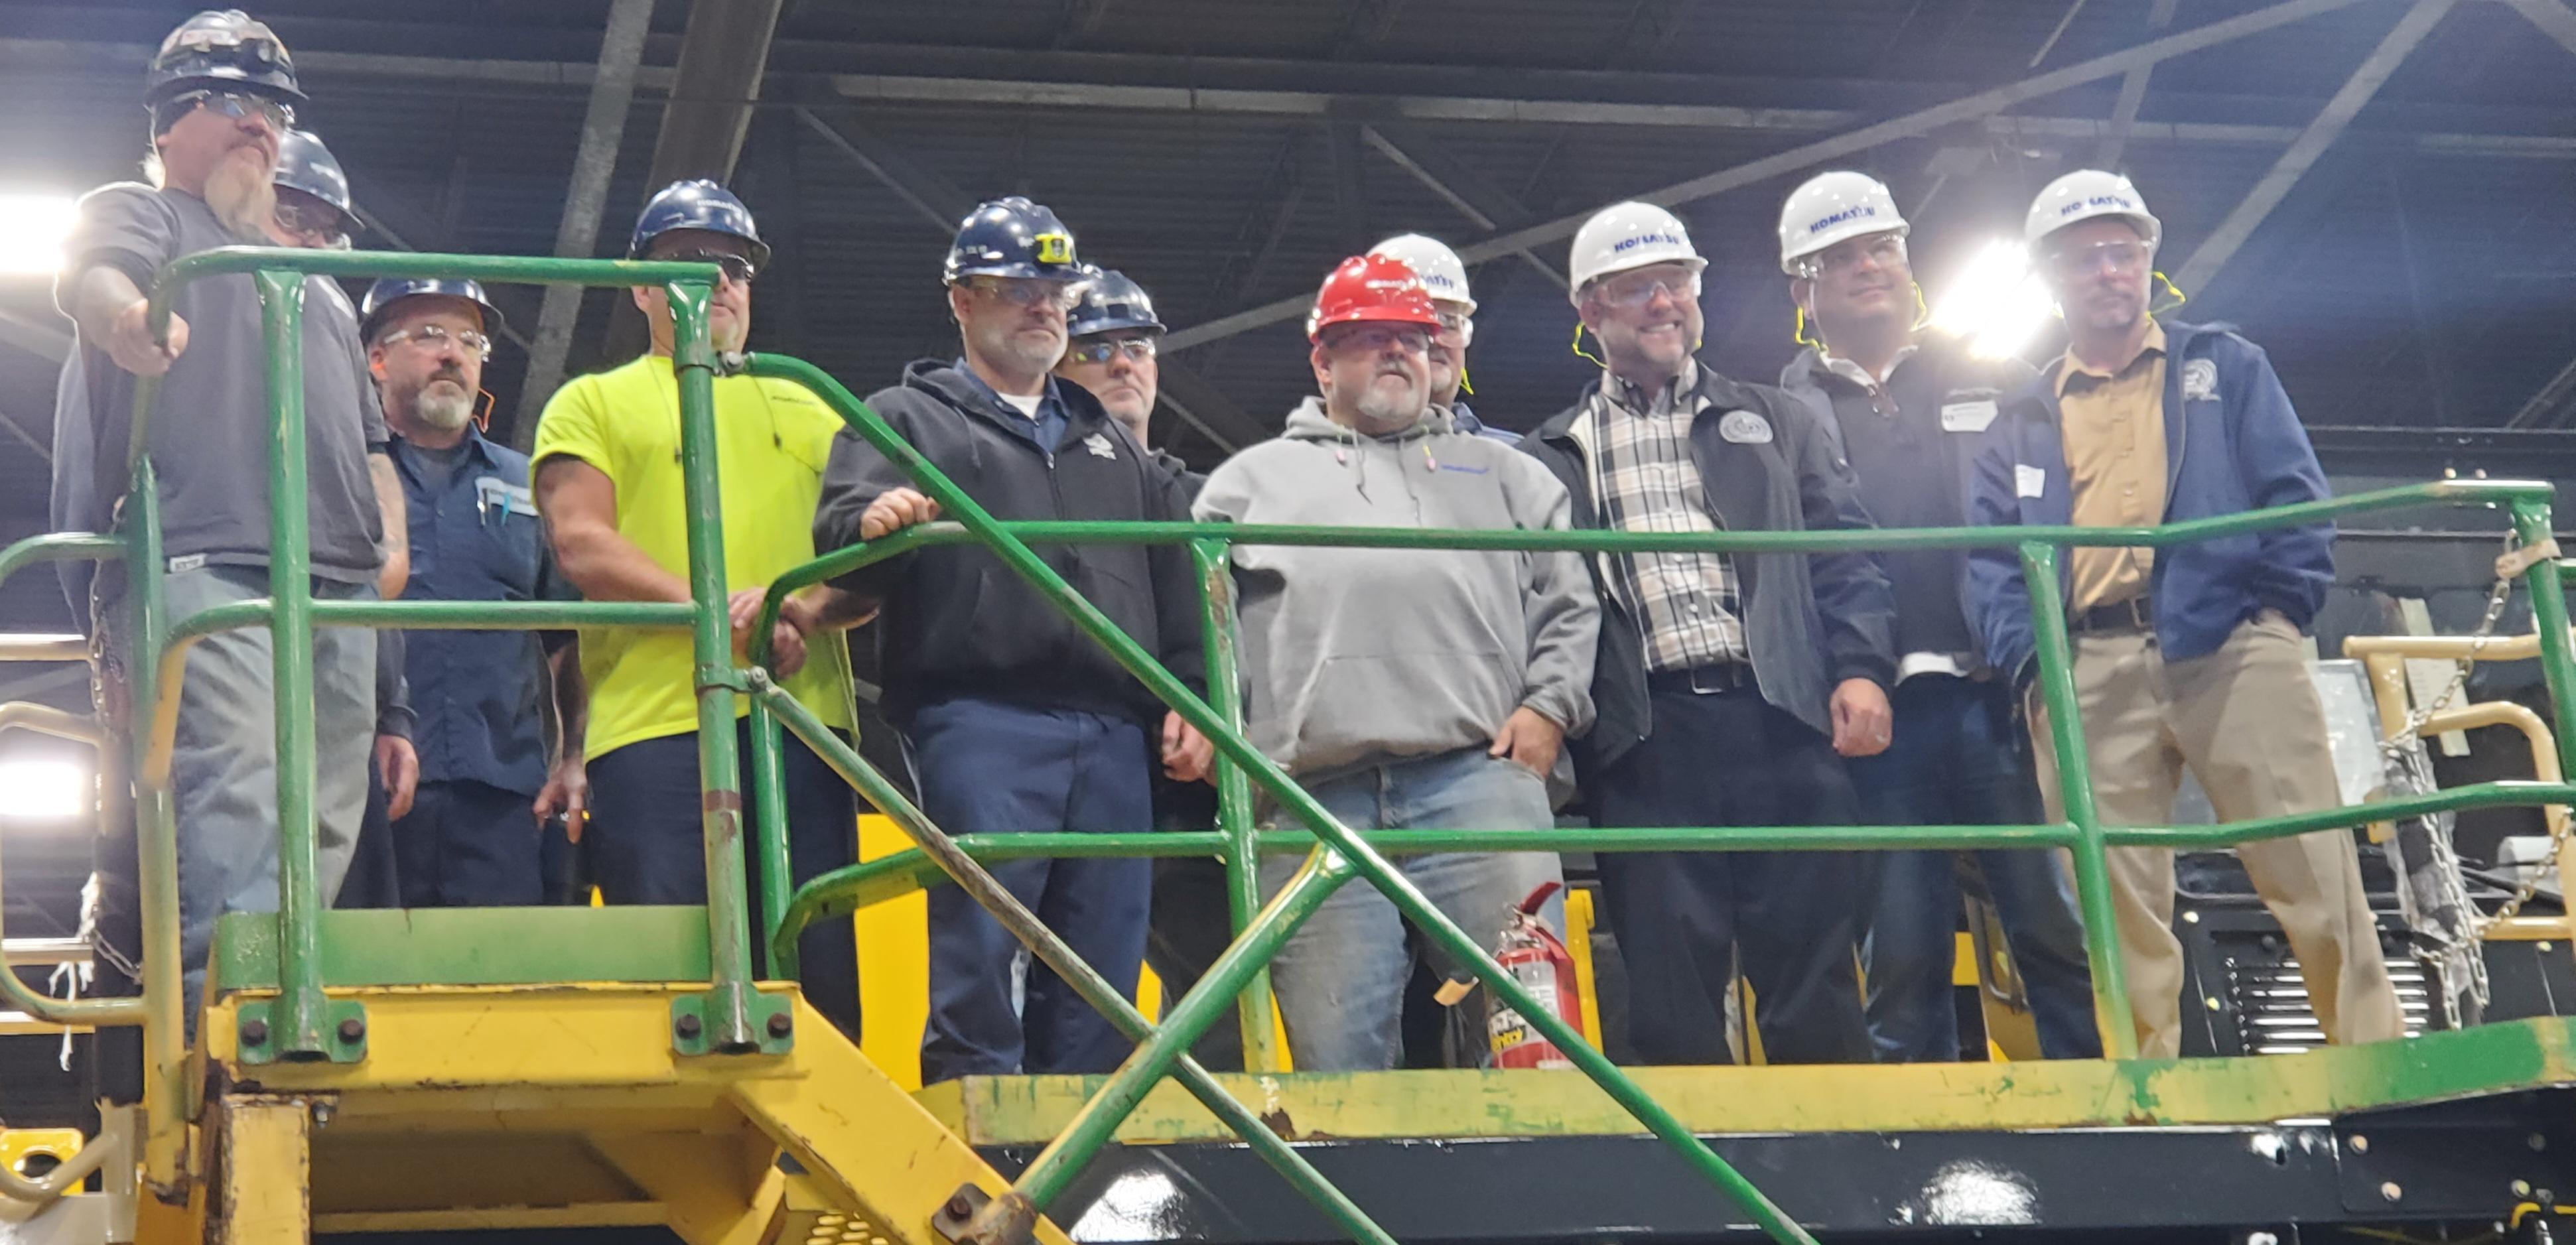
<path fill-rule="evenodd" d="M 546 902 L 541 835 L 531 804 L 533 796 L 471 778 L 420 784 L 412 812 L 394 822 L 402 907 Z"/>

